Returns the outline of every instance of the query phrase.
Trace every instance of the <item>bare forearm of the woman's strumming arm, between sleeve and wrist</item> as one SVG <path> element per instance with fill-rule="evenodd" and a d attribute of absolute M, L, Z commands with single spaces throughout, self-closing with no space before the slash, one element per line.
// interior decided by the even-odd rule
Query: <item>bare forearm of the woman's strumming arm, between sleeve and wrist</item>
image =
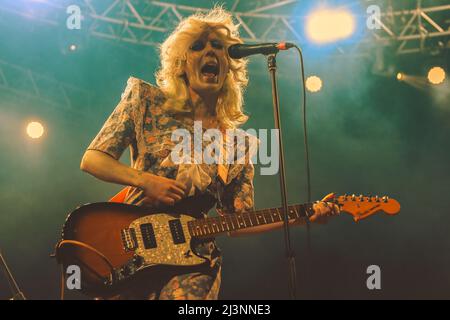
<path fill-rule="evenodd" d="M 142 185 L 142 171 L 124 165 L 101 151 L 87 150 L 81 160 L 80 169 L 106 182 L 133 187 Z"/>

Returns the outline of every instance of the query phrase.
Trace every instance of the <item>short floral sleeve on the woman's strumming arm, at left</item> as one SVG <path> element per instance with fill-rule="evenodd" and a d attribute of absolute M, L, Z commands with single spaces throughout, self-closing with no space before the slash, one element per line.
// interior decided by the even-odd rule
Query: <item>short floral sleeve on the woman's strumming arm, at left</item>
<path fill-rule="evenodd" d="M 135 119 L 139 111 L 139 79 L 130 78 L 122 98 L 88 150 L 98 150 L 119 159 L 125 149 L 136 141 Z"/>

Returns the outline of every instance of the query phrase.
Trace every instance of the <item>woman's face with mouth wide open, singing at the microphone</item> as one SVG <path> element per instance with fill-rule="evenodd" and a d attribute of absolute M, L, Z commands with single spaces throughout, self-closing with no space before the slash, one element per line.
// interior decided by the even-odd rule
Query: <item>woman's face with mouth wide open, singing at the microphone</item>
<path fill-rule="evenodd" d="M 205 33 L 194 40 L 187 52 L 185 73 L 195 92 L 218 93 L 228 70 L 228 54 L 216 32 Z"/>

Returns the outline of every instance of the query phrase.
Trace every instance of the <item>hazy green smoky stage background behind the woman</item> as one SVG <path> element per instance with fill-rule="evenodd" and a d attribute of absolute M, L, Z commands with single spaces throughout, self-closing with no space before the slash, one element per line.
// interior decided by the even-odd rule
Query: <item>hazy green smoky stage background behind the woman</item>
<path fill-rule="evenodd" d="M 211 6 L 209 1 L 196 3 Z M 82 173 L 80 159 L 117 104 L 127 78 L 154 83 L 158 53 L 153 47 L 89 37 L 83 29 L 70 33 L 64 26 L 6 11 L 0 11 L 0 26 L 5 70 L 13 72 L 15 65 L 56 79 L 46 87 L 53 100 L 60 97 L 55 83 L 78 88 L 69 97 L 70 106 L 26 95 L 31 84 L 18 78 L 12 84 L 17 92 L 0 88 L 0 248 L 28 298 L 57 299 L 59 269 L 49 254 L 67 213 L 83 203 L 105 201 L 121 189 Z M 69 53 L 72 40 L 80 46 Z M 373 56 L 335 58 L 330 51 L 305 48 L 306 74 L 319 75 L 324 83 L 319 93 L 307 95 L 313 198 L 332 191 L 387 194 L 402 209 L 397 216 L 380 213 L 357 224 L 343 214 L 327 225 L 314 225 L 310 255 L 305 229 L 293 229 L 299 297 L 448 299 L 449 83 L 416 88 L 397 81 L 395 74 L 376 75 Z M 299 203 L 306 201 L 299 62 L 295 52 L 279 54 L 278 61 L 289 201 Z M 388 60 L 395 70 L 424 78 L 430 64 L 448 72 L 447 62 L 446 52 L 391 55 Z M 251 58 L 246 128 L 273 127 L 265 64 L 263 56 Z M 46 129 L 37 141 L 25 134 L 33 119 Z M 128 163 L 128 152 L 122 160 Z M 280 204 L 278 185 L 277 176 L 261 176 L 257 168 L 257 208 Z M 288 297 L 281 231 L 218 242 L 224 255 L 221 298 Z M 372 264 L 382 272 L 378 291 L 366 288 L 366 268 Z M 8 297 L 0 277 L 0 299 Z M 68 297 L 83 298 L 75 293 Z"/>

